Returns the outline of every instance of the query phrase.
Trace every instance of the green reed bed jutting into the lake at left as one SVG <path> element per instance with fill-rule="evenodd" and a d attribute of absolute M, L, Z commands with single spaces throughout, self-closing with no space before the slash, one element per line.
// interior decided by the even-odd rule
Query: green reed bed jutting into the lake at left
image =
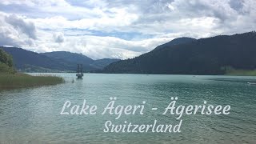
<path fill-rule="evenodd" d="M 31 76 L 29 74 L 5 74 L 0 73 L 0 90 L 17 89 L 32 86 L 49 86 L 64 82 L 63 78 L 42 75 Z"/>

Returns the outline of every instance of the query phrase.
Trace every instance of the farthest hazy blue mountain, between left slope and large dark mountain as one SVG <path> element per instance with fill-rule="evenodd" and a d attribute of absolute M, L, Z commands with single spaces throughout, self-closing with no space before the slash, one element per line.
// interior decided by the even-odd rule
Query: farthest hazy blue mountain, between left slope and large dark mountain
<path fill-rule="evenodd" d="M 105 66 L 109 65 L 112 62 L 117 62 L 120 59 L 116 58 L 103 58 L 98 60 L 93 60 L 92 58 L 86 57 L 82 54 L 70 53 L 67 51 L 54 51 L 49 53 L 41 53 L 50 58 L 57 58 L 58 60 L 63 60 L 66 62 L 72 63 L 82 63 L 83 66 L 90 67 L 87 70 L 98 70 L 103 69 Z"/>

